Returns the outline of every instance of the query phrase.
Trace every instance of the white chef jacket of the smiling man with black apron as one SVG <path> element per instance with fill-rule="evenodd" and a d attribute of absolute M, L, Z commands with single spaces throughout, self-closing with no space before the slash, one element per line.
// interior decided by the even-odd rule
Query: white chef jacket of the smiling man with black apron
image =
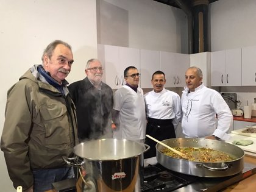
<path fill-rule="evenodd" d="M 147 117 L 172 119 L 174 129 L 177 128 L 182 116 L 179 94 L 163 88 L 159 93 L 155 93 L 154 90 L 146 93 L 144 98 Z"/>

